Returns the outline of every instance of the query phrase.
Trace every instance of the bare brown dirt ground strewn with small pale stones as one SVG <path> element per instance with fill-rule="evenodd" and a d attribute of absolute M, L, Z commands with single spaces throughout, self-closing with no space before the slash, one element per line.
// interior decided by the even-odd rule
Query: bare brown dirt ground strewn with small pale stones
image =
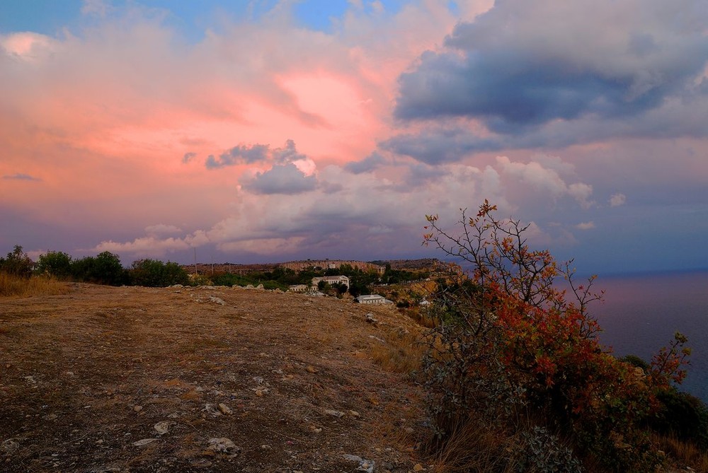
<path fill-rule="evenodd" d="M 421 389 L 372 360 L 408 330 L 242 288 L 0 298 L 0 471 L 418 471 Z"/>

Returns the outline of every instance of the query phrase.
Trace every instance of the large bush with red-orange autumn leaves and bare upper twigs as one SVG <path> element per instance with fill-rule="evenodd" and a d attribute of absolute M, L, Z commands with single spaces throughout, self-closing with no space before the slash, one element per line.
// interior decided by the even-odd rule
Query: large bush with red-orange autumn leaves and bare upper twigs
<path fill-rule="evenodd" d="M 530 250 L 528 226 L 495 211 L 486 201 L 472 218 L 463 210 L 459 233 L 427 216 L 424 243 L 472 267 L 469 277 L 450 274 L 430 299 L 436 324 L 424 371 L 438 436 L 444 440 L 470 411 L 507 423 L 525 412 L 605 467 L 653 469 L 660 459 L 641 423 L 658 409 L 657 392 L 685 376 L 685 337 L 677 334 L 649 373 L 618 360 L 600 345 L 600 327 L 588 313 L 602 298 L 594 276 L 577 284 L 570 263 Z M 565 290 L 556 285 L 560 276 Z"/>

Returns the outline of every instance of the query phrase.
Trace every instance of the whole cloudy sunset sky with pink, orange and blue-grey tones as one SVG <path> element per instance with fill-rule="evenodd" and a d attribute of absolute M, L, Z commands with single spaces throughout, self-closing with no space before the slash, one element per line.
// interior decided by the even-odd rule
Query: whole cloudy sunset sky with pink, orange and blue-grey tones
<path fill-rule="evenodd" d="M 4 0 L 0 254 L 708 268 L 704 0 Z"/>

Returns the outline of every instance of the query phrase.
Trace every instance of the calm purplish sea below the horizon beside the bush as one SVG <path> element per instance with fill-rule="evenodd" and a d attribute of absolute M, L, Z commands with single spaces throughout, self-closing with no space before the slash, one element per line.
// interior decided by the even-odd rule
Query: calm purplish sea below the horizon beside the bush
<path fill-rule="evenodd" d="M 674 332 L 693 349 L 688 376 L 680 387 L 708 402 L 708 271 L 598 277 L 605 303 L 590 312 L 604 332 L 600 341 L 618 356 L 651 360 Z"/>

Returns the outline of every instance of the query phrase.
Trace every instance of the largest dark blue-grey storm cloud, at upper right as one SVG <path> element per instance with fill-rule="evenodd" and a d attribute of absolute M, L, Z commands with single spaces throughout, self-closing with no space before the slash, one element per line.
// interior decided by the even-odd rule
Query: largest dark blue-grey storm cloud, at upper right
<path fill-rule="evenodd" d="M 556 120 L 634 119 L 670 98 L 704 100 L 695 83 L 708 60 L 707 4 L 634 3 L 636 11 L 612 1 L 497 1 L 401 75 L 396 117 L 469 117 L 514 135 Z"/>

